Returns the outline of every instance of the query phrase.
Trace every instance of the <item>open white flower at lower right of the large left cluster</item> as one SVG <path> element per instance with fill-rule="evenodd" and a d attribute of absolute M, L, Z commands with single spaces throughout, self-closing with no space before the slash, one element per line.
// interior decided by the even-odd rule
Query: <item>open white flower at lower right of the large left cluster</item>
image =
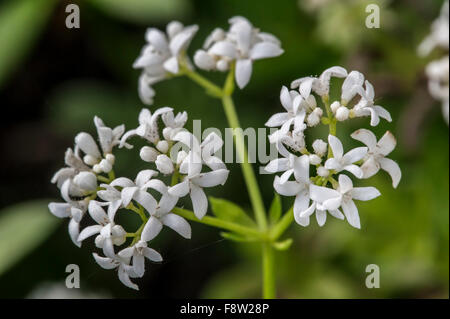
<path fill-rule="evenodd" d="M 178 202 L 178 197 L 170 194 L 169 188 L 159 180 L 151 180 L 148 187 L 158 191 L 161 194 L 161 199 L 156 210 L 150 214 L 150 218 L 142 230 L 141 239 L 144 241 L 154 239 L 163 226 L 169 227 L 182 237 L 190 239 L 191 226 L 189 223 L 183 217 L 171 212 Z"/>

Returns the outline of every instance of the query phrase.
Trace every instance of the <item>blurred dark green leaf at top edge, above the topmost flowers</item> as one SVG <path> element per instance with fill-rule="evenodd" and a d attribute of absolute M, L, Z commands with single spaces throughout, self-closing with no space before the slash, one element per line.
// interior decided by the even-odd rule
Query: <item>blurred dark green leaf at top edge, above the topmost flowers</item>
<path fill-rule="evenodd" d="M 149 24 L 183 17 L 190 11 L 186 0 L 90 0 L 101 10 L 126 21 Z"/>

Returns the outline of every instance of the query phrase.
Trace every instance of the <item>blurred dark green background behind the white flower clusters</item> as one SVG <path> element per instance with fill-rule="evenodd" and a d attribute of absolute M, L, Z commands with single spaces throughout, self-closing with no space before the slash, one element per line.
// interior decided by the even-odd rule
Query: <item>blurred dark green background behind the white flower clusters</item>
<path fill-rule="evenodd" d="M 77 3 L 81 28 L 65 27 L 65 7 Z M 381 28 L 367 29 L 368 3 L 378 3 Z M 262 127 L 280 110 L 279 90 L 292 80 L 342 65 L 363 72 L 379 104 L 394 119 L 375 132 L 398 138 L 390 155 L 400 163 L 397 190 L 384 172 L 360 185 L 383 196 L 358 204 L 362 229 L 329 219 L 323 228 L 292 225 L 288 252 L 276 252 L 278 295 L 282 298 L 448 298 L 449 131 L 439 102 L 428 94 L 427 59 L 416 47 L 429 32 L 442 1 L 241 1 L 241 0 L 10 0 L 0 4 L 0 297 L 59 296 L 68 293 L 65 267 L 78 264 L 83 296 L 208 297 L 260 296 L 259 247 L 223 240 L 217 229 L 192 223 L 193 238 L 173 232 L 153 247 L 165 258 L 147 266 L 140 292 L 124 287 L 113 271 L 98 267 L 92 244 L 75 247 L 67 220 L 47 211 L 59 197 L 50 184 L 64 151 L 81 130 L 94 133 L 99 115 L 110 126 L 136 126 L 143 107 L 137 96 L 139 72 L 131 65 L 144 44 L 146 27 L 164 28 L 172 19 L 198 24 L 190 52 L 213 28 L 243 15 L 282 41 L 285 54 L 258 61 L 243 92 L 235 94 L 244 127 Z M 223 81 L 222 74 L 207 74 Z M 187 110 L 190 120 L 224 128 L 220 102 L 187 79 L 155 86 L 155 107 Z M 344 144 L 367 120 L 338 126 Z M 324 137 L 315 131 L 311 138 Z M 320 136 L 321 135 L 321 136 Z M 346 137 L 347 136 L 347 137 Z M 134 176 L 145 167 L 134 152 L 118 152 L 116 173 Z M 224 187 L 208 195 L 248 207 L 238 167 Z M 267 206 L 273 176 L 260 176 Z M 59 200 L 59 199 L 58 199 Z M 283 202 L 288 209 L 292 198 Z M 365 268 L 377 264 L 381 287 L 365 287 Z M 59 288 L 58 288 L 59 287 Z M 70 293 L 68 293 L 70 294 Z"/>

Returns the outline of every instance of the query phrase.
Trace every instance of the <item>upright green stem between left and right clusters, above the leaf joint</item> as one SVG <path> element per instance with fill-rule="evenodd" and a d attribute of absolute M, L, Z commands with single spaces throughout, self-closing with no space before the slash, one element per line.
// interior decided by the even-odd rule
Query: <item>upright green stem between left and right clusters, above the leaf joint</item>
<path fill-rule="evenodd" d="M 256 222 L 261 230 L 267 229 L 267 219 L 264 208 L 264 203 L 259 191 L 259 186 L 256 181 L 255 173 L 253 172 L 252 165 L 248 160 L 248 153 L 245 147 L 244 135 L 239 124 L 239 119 L 236 114 L 233 100 L 231 96 L 224 96 L 222 98 L 222 104 L 225 114 L 228 119 L 228 124 L 234 131 L 234 140 L 236 143 L 236 152 L 241 160 L 241 169 L 244 175 L 245 183 L 250 195 L 250 201 L 252 203 L 253 211 L 255 213 Z"/>

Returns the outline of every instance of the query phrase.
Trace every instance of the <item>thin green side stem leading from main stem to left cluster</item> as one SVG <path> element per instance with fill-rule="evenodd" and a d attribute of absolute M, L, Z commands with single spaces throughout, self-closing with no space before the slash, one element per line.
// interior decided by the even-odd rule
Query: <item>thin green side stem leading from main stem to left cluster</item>
<path fill-rule="evenodd" d="M 222 228 L 222 229 L 229 230 L 229 231 L 235 232 L 237 234 L 245 235 L 245 236 L 255 236 L 257 238 L 266 239 L 264 236 L 264 233 L 261 233 L 259 230 L 251 228 L 251 227 L 242 226 L 240 224 L 235 224 L 233 222 L 225 221 L 225 220 L 218 219 L 215 217 L 210 217 L 210 216 L 204 216 L 202 219 L 198 219 L 194 215 L 193 212 L 191 212 L 187 209 L 178 208 L 178 207 L 175 207 L 172 210 L 172 212 L 183 218 L 195 221 L 197 223 L 202 223 L 205 225 Z"/>

